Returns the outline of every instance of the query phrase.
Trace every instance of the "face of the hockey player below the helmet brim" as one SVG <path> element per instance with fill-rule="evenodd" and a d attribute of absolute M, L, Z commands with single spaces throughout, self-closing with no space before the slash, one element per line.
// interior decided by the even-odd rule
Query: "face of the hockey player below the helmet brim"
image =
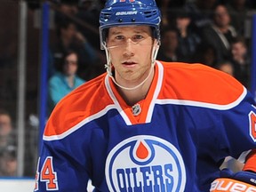
<path fill-rule="evenodd" d="M 153 44 L 148 26 L 109 28 L 107 46 L 118 83 L 137 84 L 148 76 Z"/>

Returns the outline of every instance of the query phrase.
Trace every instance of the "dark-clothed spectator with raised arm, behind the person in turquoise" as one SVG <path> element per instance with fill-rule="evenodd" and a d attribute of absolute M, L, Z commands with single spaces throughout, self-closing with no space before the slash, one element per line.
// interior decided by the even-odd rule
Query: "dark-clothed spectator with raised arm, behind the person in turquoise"
<path fill-rule="evenodd" d="M 79 72 L 84 74 L 91 66 L 99 62 L 97 52 L 92 48 L 92 45 L 87 39 L 76 29 L 76 25 L 73 21 L 67 18 L 59 21 L 57 25 L 57 40 L 52 45 L 52 68 L 60 70 L 61 59 L 63 58 L 63 52 L 67 52 L 69 49 L 77 52 L 79 57 L 79 64 L 81 66 Z M 52 69 L 50 68 L 50 69 Z M 51 75 L 54 73 L 51 73 Z M 83 76 L 86 79 L 87 76 Z"/>

